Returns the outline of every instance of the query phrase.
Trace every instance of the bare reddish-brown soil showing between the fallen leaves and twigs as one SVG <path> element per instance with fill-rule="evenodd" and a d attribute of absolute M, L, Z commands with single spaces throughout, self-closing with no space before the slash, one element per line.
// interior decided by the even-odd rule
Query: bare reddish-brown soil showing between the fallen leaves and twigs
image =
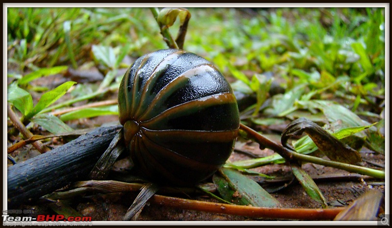
<path fill-rule="evenodd" d="M 107 99 L 116 99 L 117 94 L 109 94 Z M 73 121 L 70 126 L 74 128 L 87 128 L 97 127 L 103 123 L 118 121 L 117 116 L 105 116 L 98 118 L 91 118 L 79 121 Z M 11 127 L 9 123 L 9 127 Z M 40 132 L 42 129 L 36 129 L 35 134 L 45 134 Z M 279 136 L 279 135 L 277 135 Z M 279 137 L 276 137 L 279 138 Z M 8 135 L 8 146 L 19 141 L 15 136 Z M 51 141 L 51 147 L 58 147 L 62 144 L 62 140 L 54 138 Z M 239 144 L 240 145 L 240 144 Z M 241 144 L 243 145 L 243 143 Z M 258 145 L 255 143 L 249 143 L 241 146 L 242 150 L 252 152 L 261 156 L 267 156 L 273 152 L 270 150 L 260 150 Z M 30 145 L 12 153 L 11 155 L 21 156 L 20 159 L 25 160 L 29 157 L 38 155 Z M 385 164 L 385 157 L 381 154 L 375 154 L 371 151 L 364 150 L 361 152 L 362 157 L 369 162 L 377 164 Z M 230 156 L 230 161 L 249 159 L 248 156 L 233 152 Z M 10 164 L 9 164 L 10 165 Z M 124 165 L 127 165 L 126 162 Z M 374 164 L 364 162 L 363 164 L 369 168 L 377 168 Z M 303 169 L 307 171 L 312 177 L 319 175 L 338 175 L 347 174 L 347 172 L 324 167 L 315 164 L 303 164 Z M 267 165 L 261 168 L 255 169 L 255 171 L 276 177 L 293 177 L 291 169 L 285 165 Z M 385 192 L 385 186 L 383 180 L 374 178 L 356 178 L 356 179 L 341 179 L 333 180 L 332 178 L 324 178 L 322 180 L 315 180 L 326 201 L 330 207 L 335 206 L 346 206 L 353 203 L 359 196 L 361 196 L 368 189 L 376 189 L 380 192 Z M 382 181 L 382 182 L 380 182 Z M 285 208 L 321 208 L 320 204 L 312 200 L 304 191 L 304 189 L 298 184 L 293 183 L 286 188 L 272 193 Z M 78 198 L 73 201 L 67 201 L 69 205 L 76 209 L 83 216 L 91 216 L 93 221 L 121 221 L 125 215 L 127 209 L 132 204 L 136 197 L 136 193 L 110 193 L 110 194 L 95 194 L 85 196 L 84 198 Z M 184 196 L 179 196 L 184 197 Z M 200 200 L 200 201 L 212 201 L 215 200 L 205 196 L 188 196 L 184 197 L 188 199 Z M 384 205 L 382 205 L 383 208 Z M 37 214 L 53 214 L 52 209 L 47 205 L 25 205 L 21 209 L 33 209 L 31 216 Z M 139 220 L 141 221 L 257 221 L 257 218 L 248 218 L 243 216 L 233 216 L 225 214 L 214 214 L 193 210 L 185 210 L 178 208 L 171 208 L 160 205 L 147 204 L 140 214 Z M 269 220 L 263 219 L 263 220 Z M 312 218 L 309 218 L 312 220 Z"/>

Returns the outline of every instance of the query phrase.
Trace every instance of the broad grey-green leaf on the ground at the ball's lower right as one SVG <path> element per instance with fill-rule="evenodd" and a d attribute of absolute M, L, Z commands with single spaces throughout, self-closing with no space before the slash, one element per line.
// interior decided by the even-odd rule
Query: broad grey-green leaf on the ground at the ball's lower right
<path fill-rule="evenodd" d="M 231 196 L 225 194 L 226 197 L 231 198 L 227 199 L 224 197 L 226 201 L 231 202 L 234 198 L 240 198 L 239 203 L 243 205 L 251 204 L 260 207 L 279 207 L 279 201 L 272 197 L 254 180 L 245 177 L 238 171 L 227 168 L 221 168 L 219 172 L 226 179 L 227 186 L 234 190 L 235 193 L 238 193 L 234 195 L 237 197 L 233 197 L 233 194 Z M 218 189 L 218 191 L 221 193 L 222 189 Z"/>

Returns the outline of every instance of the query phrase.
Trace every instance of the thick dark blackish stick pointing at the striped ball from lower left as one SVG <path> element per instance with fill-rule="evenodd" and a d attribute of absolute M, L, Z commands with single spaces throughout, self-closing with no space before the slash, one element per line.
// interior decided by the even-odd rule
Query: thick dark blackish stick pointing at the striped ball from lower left
<path fill-rule="evenodd" d="M 121 126 L 100 127 L 90 133 L 7 171 L 8 209 L 19 208 L 88 174 Z"/>

